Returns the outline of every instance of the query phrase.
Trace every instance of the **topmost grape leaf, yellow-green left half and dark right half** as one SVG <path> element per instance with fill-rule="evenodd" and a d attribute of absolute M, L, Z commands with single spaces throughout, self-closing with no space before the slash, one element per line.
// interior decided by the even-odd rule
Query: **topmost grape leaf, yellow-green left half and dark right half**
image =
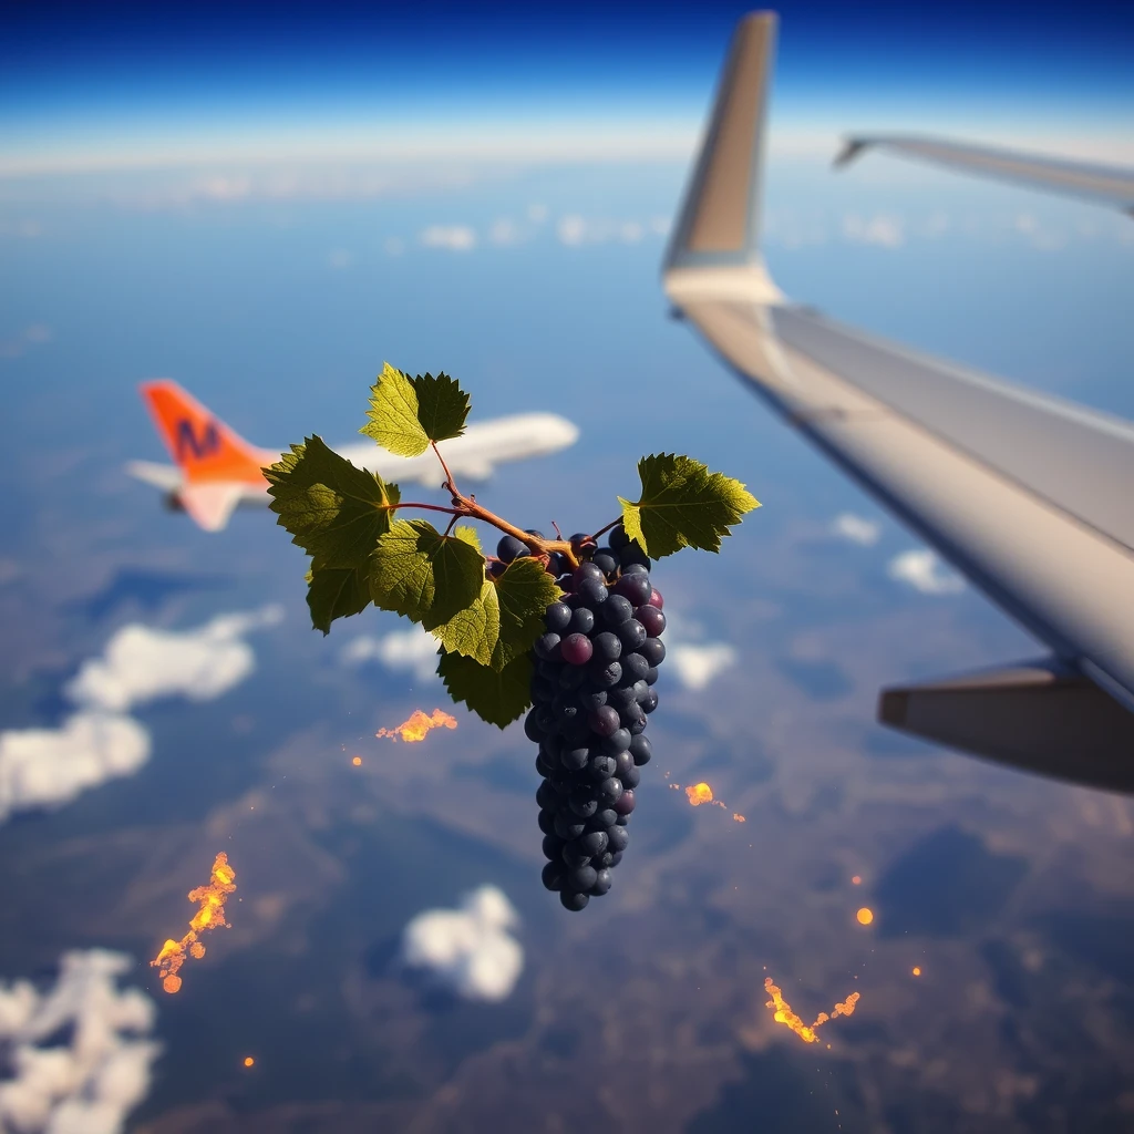
<path fill-rule="evenodd" d="M 430 441 L 460 437 L 468 395 L 448 374 L 411 379 L 389 363 L 370 390 L 370 418 L 358 431 L 399 457 L 416 457 Z"/>

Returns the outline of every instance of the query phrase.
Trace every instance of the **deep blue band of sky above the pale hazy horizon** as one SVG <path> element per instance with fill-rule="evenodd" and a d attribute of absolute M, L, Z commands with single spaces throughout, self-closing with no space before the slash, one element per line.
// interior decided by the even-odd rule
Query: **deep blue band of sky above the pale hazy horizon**
<path fill-rule="evenodd" d="M 700 118 L 743 3 L 69 5 L 9 8 L 0 124 L 413 107 L 417 116 L 595 107 Z M 784 110 L 917 95 L 1120 122 L 1134 9 L 779 5 Z"/>

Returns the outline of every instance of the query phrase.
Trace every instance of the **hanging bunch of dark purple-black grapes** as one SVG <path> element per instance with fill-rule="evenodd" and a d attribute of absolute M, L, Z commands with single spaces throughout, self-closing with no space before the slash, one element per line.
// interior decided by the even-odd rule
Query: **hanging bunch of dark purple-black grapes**
<path fill-rule="evenodd" d="M 581 562 L 557 576 L 566 593 L 548 607 L 547 633 L 532 648 L 534 706 L 524 730 L 540 745 L 543 885 L 567 909 L 583 909 L 610 889 L 629 843 L 638 769 L 650 760 L 644 734 L 658 706 L 666 616 L 650 560 L 620 524 L 608 547 L 585 535 L 570 542 Z M 497 553 L 509 562 L 526 548 L 509 535 Z M 548 565 L 552 573 L 567 567 L 558 552 Z"/>

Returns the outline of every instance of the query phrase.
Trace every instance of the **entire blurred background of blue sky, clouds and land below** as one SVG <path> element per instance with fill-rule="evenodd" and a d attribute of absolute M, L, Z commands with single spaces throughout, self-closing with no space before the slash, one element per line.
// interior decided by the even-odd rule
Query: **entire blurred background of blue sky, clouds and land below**
<path fill-rule="evenodd" d="M 1128 1120 L 1134 807 L 874 723 L 883 686 L 1036 644 L 667 318 L 737 11 L 6 12 L 0 1125 Z M 841 130 L 887 122 L 1124 160 L 1129 34 L 1101 6 L 785 9 L 776 281 L 1134 418 L 1128 218 L 883 154 L 830 170 Z M 613 518 L 649 451 L 762 502 L 719 557 L 655 569 L 655 755 L 581 917 L 539 883 L 521 728 L 454 709 L 392 616 L 313 632 L 269 513 L 210 535 L 124 471 L 166 459 L 139 381 L 257 445 L 335 443 L 386 359 L 452 373 L 474 418 L 579 426 L 477 486 L 522 526 Z M 456 727 L 375 735 L 434 708 Z M 167 995 L 149 962 L 222 850 L 231 928 Z M 861 1000 L 804 1046 L 768 978 L 809 1022 Z M 52 1060 L 70 1088 L 33 1074 Z"/>

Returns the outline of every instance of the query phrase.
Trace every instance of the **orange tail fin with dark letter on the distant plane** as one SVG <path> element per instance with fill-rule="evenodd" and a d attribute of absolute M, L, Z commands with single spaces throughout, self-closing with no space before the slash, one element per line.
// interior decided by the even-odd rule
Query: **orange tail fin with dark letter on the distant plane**
<path fill-rule="evenodd" d="M 161 439 L 187 484 L 212 481 L 263 483 L 264 465 L 279 456 L 262 452 L 234 433 L 192 395 L 168 378 L 141 384 Z"/>

